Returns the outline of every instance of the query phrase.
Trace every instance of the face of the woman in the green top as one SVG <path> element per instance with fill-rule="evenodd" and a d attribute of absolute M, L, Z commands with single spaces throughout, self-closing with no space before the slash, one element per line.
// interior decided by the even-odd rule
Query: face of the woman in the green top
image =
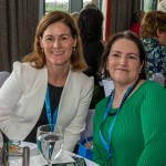
<path fill-rule="evenodd" d="M 128 39 L 115 41 L 107 58 L 106 70 L 114 83 L 133 84 L 142 70 L 137 45 Z"/>

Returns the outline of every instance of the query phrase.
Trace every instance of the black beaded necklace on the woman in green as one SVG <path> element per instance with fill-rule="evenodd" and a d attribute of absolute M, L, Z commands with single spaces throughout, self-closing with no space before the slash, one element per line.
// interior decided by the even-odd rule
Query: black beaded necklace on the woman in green
<path fill-rule="evenodd" d="M 126 93 L 126 95 L 124 95 L 122 102 L 121 102 L 121 105 L 118 107 L 118 110 L 121 110 L 121 107 L 123 106 L 123 104 L 126 102 L 127 97 L 131 95 L 131 93 L 134 91 L 134 89 L 136 87 L 136 85 L 138 84 L 139 82 L 139 79 L 133 84 L 133 86 L 131 86 L 131 89 L 128 89 L 128 92 Z M 114 96 L 114 93 L 115 93 L 115 90 L 113 90 L 112 94 L 110 95 L 110 98 L 108 101 L 111 100 L 111 96 L 113 95 Z M 108 104 L 108 101 L 107 101 L 107 104 Z M 106 104 L 106 105 L 107 105 Z M 115 114 L 117 113 L 117 110 L 114 112 L 114 113 L 108 113 L 110 116 L 114 116 Z"/>

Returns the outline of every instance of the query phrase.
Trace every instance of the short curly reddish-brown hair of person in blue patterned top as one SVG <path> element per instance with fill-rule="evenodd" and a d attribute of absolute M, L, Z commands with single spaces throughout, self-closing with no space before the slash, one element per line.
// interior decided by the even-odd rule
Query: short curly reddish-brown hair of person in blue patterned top
<path fill-rule="evenodd" d="M 144 14 L 141 22 L 141 37 L 155 38 L 157 30 L 166 32 L 166 12 L 163 11 L 148 11 Z"/>

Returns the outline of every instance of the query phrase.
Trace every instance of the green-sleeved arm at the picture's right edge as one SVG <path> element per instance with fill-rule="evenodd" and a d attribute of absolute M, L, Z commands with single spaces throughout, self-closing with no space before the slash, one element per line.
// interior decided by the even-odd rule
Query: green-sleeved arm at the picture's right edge
<path fill-rule="evenodd" d="M 166 90 L 149 87 L 141 106 L 144 151 L 137 166 L 166 165 Z"/>

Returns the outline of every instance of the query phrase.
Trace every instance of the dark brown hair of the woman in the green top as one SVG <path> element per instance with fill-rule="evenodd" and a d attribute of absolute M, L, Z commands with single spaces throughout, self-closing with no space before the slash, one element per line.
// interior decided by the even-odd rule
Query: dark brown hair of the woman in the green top
<path fill-rule="evenodd" d="M 97 72 L 98 76 L 102 79 L 111 79 L 111 75 L 110 75 L 108 71 L 106 70 L 106 62 L 107 62 L 107 58 L 110 55 L 110 51 L 111 51 L 113 44 L 120 39 L 127 39 L 129 41 L 133 41 L 137 45 L 138 52 L 139 52 L 141 64 L 143 64 L 143 68 L 142 68 L 142 71 L 141 71 L 138 77 L 146 80 L 147 79 L 146 70 L 145 70 L 146 69 L 146 52 L 144 50 L 143 43 L 139 40 L 139 38 L 132 31 L 118 32 L 110 38 L 106 49 L 100 61 L 100 69 Z"/>

